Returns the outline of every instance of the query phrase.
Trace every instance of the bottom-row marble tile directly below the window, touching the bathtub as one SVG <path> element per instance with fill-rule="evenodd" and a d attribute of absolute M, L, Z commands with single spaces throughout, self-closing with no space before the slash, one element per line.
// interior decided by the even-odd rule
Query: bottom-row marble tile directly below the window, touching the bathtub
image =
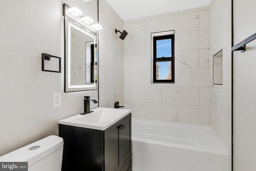
<path fill-rule="evenodd" d="M 180 105 L 146 103 L 146 119 L 180 122 Z"/>

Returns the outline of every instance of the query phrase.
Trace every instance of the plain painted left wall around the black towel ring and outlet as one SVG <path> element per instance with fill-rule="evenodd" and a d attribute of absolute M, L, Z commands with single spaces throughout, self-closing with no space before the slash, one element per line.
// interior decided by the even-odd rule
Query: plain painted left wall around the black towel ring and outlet
<path fill-rule="evenodd" d="M 62 4 L 77 6 L 97 21 L 95 2 L 0 0 L 0 155 L 58 135 L 57 121 L 82 112 L 83 96 L 98 99 L 97 90 L 64 93 Z M 42 53 L 61 57 L 62 73 L 41 71 Z M 62 93 L 59 108 L 52 108 L 54 92 Z"/>

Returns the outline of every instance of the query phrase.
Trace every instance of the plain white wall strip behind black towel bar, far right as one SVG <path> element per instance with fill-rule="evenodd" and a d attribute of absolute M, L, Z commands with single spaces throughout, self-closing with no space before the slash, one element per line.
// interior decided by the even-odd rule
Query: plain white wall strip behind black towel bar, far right
<path fill-rule="evenodd" d="M 234 0 L 234 45 L 256 33 L 256 1 Z M 234 51 L 234 171 L 256 170 L 256 40 Z"/>

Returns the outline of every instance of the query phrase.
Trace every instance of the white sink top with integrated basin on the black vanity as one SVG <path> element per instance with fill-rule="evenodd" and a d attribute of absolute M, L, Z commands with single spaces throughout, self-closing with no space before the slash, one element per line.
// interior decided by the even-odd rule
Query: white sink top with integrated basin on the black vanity
<path fill-rule="evenodd" d="M 94 108 L 89 114 L 76 114 L 58 121 L 58 124 L 106 130 L 130 113 L 129 109 Z"/>

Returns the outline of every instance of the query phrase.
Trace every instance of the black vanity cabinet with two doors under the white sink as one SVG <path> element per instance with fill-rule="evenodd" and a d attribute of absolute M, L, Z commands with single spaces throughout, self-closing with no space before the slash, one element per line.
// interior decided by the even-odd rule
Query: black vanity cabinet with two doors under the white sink
<path fill-rule="evenodd" d="M 131 171 L 131 113 L 106 130 L 59 124 L 62 171 Z"/>

